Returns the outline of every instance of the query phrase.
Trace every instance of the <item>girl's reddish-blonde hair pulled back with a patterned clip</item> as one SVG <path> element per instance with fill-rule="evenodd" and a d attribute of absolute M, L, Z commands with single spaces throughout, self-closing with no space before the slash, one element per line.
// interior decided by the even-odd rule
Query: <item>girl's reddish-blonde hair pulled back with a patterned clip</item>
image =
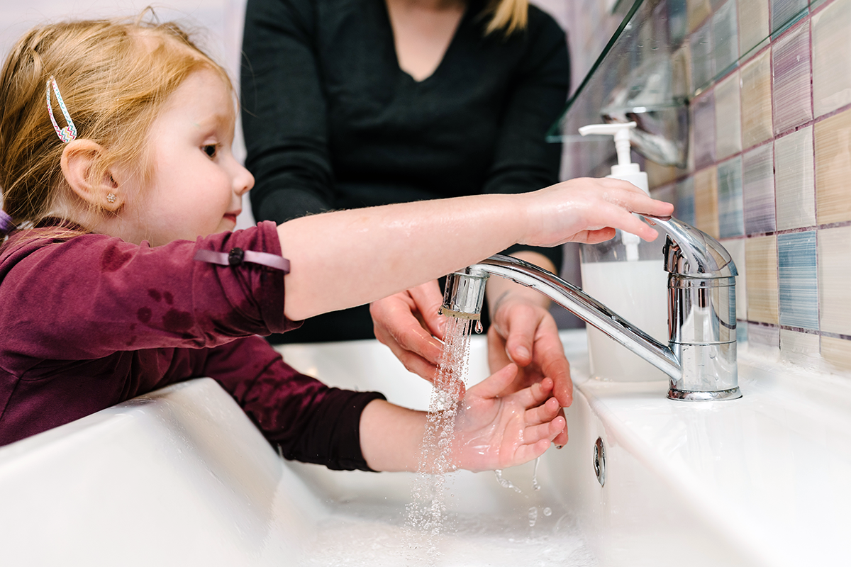
<path fill-rule="evenodd" d="M 37 26 L 15 43 L 0 73 L 0 190 L 15 224 L 52 213 L 67 187 L 60 168 L 65 143 L 50 122 L 45 95 L 53 76 L 77 127 L 77 138 L 104 148 L 92 167 L 146 165 L 146 138 L 163 103 L 192 72 L 226 71 L 174 23 L 86 20 Z M 54 99 L 54 116 L 65 125 Z M 2 237 L 2 235 L 0 235 Z"/>

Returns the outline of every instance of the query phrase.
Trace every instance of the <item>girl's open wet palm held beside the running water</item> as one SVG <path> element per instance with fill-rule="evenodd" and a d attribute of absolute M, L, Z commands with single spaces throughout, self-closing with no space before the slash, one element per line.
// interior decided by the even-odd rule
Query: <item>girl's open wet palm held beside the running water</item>
<path fill-rule="evenodd" d="M 532 461 L 564 430 L 550 378 L 500 397 L 516 375 L 517 366 L 505 366 L 460 401 L 452 455 L 458 468 L 482 471 Z"/>

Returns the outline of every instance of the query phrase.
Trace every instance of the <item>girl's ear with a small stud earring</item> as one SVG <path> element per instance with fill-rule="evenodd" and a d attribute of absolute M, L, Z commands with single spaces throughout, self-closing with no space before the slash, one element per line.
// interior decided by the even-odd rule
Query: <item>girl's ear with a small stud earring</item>
<path fill-rule="evenodd" d="M 104 155 L 101 145 L 90 139 L 75 139 L 62 150 L 62 173 L 71 190 L 95 209 L 115 213 L 123 206 L 125 196 L 110 170 L 94 179 L 95 163 Z"/>

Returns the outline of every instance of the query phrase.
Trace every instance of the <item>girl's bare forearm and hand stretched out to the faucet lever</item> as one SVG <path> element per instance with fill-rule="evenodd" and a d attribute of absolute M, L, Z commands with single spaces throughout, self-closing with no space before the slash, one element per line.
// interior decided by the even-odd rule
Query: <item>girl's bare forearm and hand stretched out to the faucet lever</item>
<path fill-rule="evenodd" d="M 572 179 L 519 195 L 465 196 L 294 218 L 278 226 L 290 261 L 285 314 L 300 320 L 418 286 L 517 242 L 600 242 L 623 229 L 653 240 L 630 213 L 667 216 L 618 179 Z"/>

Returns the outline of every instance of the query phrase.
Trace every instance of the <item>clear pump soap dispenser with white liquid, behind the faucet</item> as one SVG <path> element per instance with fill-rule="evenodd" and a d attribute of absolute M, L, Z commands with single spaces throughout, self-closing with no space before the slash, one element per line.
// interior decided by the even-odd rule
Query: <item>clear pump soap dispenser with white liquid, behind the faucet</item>
<path fill-rule="evenodd" d="M 647 173 L 631 162 L 630 129 L 635 122 L 592 124 L 580 134 L 614 135 L 618 164 L 609 178 L 623 179 L 649 195 Z M 667 282 L 661 239 L 643 241 L 622 230 L 610 241 L 580 246 L 582 289 L 609 309 L 654 337 L 668 343 Z M 614 343 L 595 327 L 586 326 L 591 376 L 618 382 L 666 380 L 662 371 Z"/>

